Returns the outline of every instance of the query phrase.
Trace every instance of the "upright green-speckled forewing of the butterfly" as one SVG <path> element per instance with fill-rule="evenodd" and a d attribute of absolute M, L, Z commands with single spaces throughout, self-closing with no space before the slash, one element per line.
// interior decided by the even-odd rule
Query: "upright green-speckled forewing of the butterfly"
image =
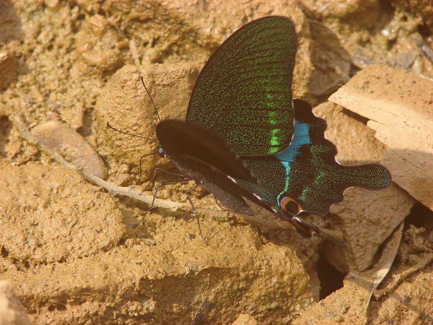
<path fill-rule="evenodd" d="M 293 23 L 269 16 L 242 26 L 209 58 L 191 95 L 186 121 L 211 130 L 238 155 L 267 155 L 293 134 Z"/>

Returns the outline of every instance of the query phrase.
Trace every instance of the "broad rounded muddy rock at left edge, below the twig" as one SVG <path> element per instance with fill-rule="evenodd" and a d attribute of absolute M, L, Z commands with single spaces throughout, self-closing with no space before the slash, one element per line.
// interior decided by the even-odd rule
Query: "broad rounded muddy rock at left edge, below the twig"
<path fill-rule="evenodd" d="M 3 257 L 18 269 L 94 255 L 125 234 L 112 198 L 64 168 L 5 166 L 0 215 Z"/>

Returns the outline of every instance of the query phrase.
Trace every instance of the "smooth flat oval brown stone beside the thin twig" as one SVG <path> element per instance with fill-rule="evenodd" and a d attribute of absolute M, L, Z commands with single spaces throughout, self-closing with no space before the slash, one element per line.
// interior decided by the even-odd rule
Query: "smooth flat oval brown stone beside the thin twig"
<path fill-rule="evenodd" d="M 75 166 L 82 166 L 101 179 L 107 178 L 107 169 L 101 157 L 80 133 L 66 123 L 51 120 L 32 128 L 38 140 L 52 149 L 59 149 Z"/>

